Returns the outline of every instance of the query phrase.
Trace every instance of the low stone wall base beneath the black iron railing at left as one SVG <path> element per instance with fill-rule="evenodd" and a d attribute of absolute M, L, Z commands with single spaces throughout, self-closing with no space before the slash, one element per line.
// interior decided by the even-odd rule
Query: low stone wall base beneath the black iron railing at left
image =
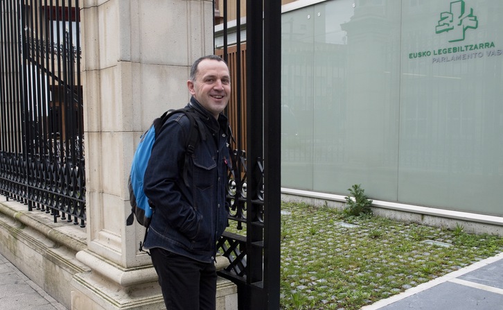
<path fill-rule="evenodd" d="M 0 250 L 33 283 L 71 309 L 69 281 L 76 273 L 89 271 L 75 257 L 76 250 L 82 248 L 82 240 L 73 234 L 82 228 L 64 222 L 51 223 L 51 219 L 45 213 L 28 212 L 26 205 L 6 202 L 3 198 L 0 200 Z M 64 234 L 68 229 L 73 229 L 73 233 Z M 85 230 L 80 234 L 85 236 Z"/>

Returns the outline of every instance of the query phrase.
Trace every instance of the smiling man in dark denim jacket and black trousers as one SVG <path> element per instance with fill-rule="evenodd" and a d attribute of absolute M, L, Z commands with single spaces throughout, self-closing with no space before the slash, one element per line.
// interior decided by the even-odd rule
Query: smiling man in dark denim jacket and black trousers
<path fill-rule="evenodd" d="M 187 86 L 188 107 L 199 117 L 202 133 L 184 180 L 188 117 L 175 114 L 162 126 L 145 171 L 144 190 L 154 214 L 144 247 L 150 249 L 168 310 L 214 310 L 216 242 L 229 214 L 230 132 L 222 114 L 231 94 L 229 68 L 218 56 L 204 56 L 194 62 Z"/>

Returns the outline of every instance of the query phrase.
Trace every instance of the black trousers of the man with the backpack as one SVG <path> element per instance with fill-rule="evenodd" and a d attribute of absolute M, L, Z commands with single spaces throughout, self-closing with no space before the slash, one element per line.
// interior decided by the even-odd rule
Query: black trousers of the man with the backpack
<path fill-rule="evenodd" d="M 215 310 L 217 273 L 202 263 L 161 248 L 150 249 L 167 310 Z"/>

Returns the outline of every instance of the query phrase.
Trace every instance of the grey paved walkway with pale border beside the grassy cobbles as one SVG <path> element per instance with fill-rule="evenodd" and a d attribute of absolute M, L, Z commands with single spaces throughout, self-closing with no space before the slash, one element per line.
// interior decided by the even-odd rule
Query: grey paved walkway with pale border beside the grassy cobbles
<path fill-rule="evenodd" d="M 503 253 L 362 310 L 503 310 Z"/>

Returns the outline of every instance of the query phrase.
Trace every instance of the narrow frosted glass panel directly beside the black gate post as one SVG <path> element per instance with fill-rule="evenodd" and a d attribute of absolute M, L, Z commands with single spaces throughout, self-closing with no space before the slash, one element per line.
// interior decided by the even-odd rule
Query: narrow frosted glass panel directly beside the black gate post
<path fill-rule="evenodd" d="M 281 185 L 312 189 L 314 8 L 283 14 Z"/>

